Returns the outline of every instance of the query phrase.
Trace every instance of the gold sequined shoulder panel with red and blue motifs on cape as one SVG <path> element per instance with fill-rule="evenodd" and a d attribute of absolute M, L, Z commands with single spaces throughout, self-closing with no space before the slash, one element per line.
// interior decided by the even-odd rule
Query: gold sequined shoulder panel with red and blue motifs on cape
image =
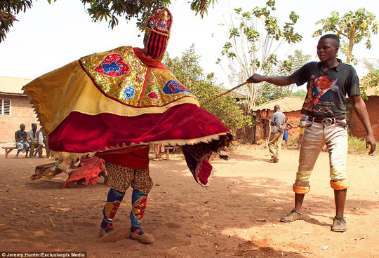
<path fill-rule="evenodd" d="M 166 69 L 147 67 L 133 48 L 122 46 L 80 59 L 98 89 L 131 107 L 163 107 L 183 97 L 196 97 Z"/>

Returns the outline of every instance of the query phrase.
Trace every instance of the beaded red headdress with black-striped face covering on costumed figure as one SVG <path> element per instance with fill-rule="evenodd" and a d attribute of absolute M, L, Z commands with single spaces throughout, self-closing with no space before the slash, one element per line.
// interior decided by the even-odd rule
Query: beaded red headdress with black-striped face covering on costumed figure
<path fill-rule="evenodd" d="M 145 53 L 155 60 L 161 60 L 164 56 L 172 23 L 173 16 L 166 7 L 154 11 L 152 18 L 147 22 L 143 44 Z"/>

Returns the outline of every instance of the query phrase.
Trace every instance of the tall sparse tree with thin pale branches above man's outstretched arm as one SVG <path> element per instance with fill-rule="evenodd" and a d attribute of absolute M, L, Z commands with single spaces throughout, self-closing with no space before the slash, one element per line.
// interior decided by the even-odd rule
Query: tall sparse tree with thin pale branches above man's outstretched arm
<path fill-rule="evenodd" d="M 301 41 L 302 36 L 294 32 L 298 15 L 291 12 L 289 21 L 280 27 L 277 18 L 272 15 L 275 10 L 274 0 L 267 1 L 263 8 L 255 7 L 251 12 L 244 12 L 242 8 L 234 9 L 236 17 L 231 18 L 229 41 L 222 50 L 222 55 L 229 61 L 231 82 L 243 83 L 255 72 L 270 74 L 279 65 L 278 50 L 285 43 Z M 244 88 L 248 97 L 248 110 L 257 104 L 264 89 L 263 83 L 250 84 Z"/>

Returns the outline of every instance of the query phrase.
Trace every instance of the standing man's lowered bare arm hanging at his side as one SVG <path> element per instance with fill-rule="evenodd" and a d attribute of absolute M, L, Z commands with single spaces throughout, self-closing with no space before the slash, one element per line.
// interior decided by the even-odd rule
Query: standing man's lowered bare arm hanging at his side
<path fill-rule="evenodd" d="M 366 104 L 364 104 L 361 95 L 353 95 L 350 98 L 352 99 L 355 111 L 357 111 L 359 120 L 364 125 L 364 129 L 366 129 L 366 148 L 368 149 L 368 146 L 371 147 L 368 154 L 372 154 L 375 151 L 376 142 L 375 137 L 373 136 L 373 128 L 371 128 L 370 118 L 368 118 Z"/>

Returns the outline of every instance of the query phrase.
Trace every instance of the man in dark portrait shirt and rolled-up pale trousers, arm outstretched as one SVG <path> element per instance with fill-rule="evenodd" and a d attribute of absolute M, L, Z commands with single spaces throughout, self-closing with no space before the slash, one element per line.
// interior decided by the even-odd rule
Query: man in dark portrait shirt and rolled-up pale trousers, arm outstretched
<path fill-rule="evenodd" d="M 248 83 L 268 83 L 277 86 L 298 86 L 307 82 L 307 97 L 302 107 L 302 114 L 309 116 L 300 148 L 299 167 L 293 191 L 295 208 L 282 217 L 281 222 L 293 222 L 302 219 L 301 208 L 305 194 L 310 191 L 310 175 L 319 153 L 328 147 L 330 161 L 330 184 L 334 189 L 335 217 L 332 231 L 346 231 L 343 218 L 347 188 L 350 183 L 346 175 L 347 125 L 346 94 L 353 102 L 357 115 L 366 129 L 366 147 L 371 147 L 368 154 L 375 151 L 375 138 L 368 118 L 366 104 L 361 98 L 359 79 L 354 68 L 337 59 L 340 40 L 334 34 L 321 37 L 317 44 L 317 55 L 321 62 L 309 62 L 290 76 L 261 76 L 253 74 Z"/>

